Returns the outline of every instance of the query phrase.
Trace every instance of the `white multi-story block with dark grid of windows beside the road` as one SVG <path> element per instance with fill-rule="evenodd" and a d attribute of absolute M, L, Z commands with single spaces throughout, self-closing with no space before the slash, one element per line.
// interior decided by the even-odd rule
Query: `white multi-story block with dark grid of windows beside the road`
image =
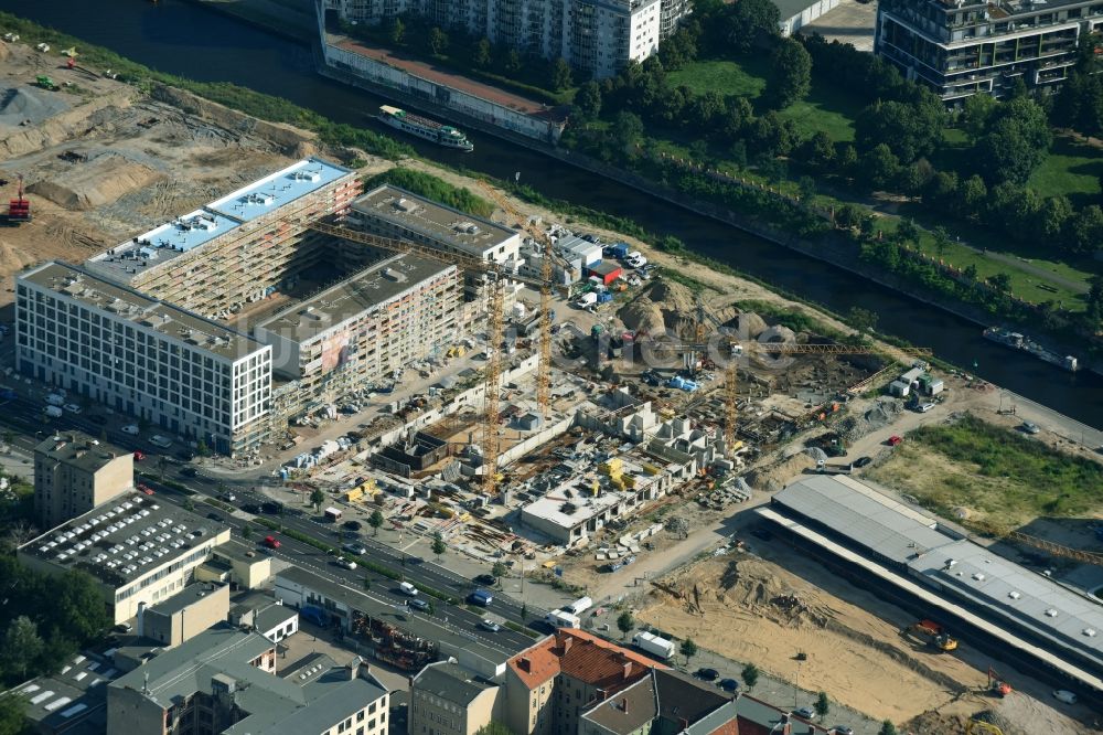
<path fill-rule="evenodd" d="M 15 329 L 28 375 L 218 451 L 265 438 L 271 348 L 237 331 L 62 263 L 19 276 Z"/>

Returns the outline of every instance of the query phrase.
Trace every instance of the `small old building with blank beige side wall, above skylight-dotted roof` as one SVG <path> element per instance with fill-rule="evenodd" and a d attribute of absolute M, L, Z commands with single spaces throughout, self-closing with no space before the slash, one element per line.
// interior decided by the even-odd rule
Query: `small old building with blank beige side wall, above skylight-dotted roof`
<path fill-rule="evenodd" d="M 133 455 L 79 432 L 34 448 L 34 514 L 43 529 L 87 513 L 133 490 Z"/>

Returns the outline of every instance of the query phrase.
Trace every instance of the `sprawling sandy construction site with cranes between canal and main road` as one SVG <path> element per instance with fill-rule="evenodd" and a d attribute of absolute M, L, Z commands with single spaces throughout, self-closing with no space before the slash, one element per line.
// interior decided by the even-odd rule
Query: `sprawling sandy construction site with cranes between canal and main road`
<path fill-rule="evenodd" d="M 634 610 L 909 732 L 964 733 L 979 712 L 1008 735 L 1091 726 L 1083 704 L 1054 709 L 1048 674 L 993 662 L 979 633 L 822 566 L 772 504 L 802 478 L 906 475 L 889 461 L 909 432 L 995 413 L 983 382 L 735 276 L 664 278 L 695 266 L 424 161 L 408 166 L 492 198 L 491 221 L 409 192 L 361 198 L 361 177 L 393 163 L 352 171 L 333 161 L 357 151 L 290 127 L 173 89 L 138 96 L 56 54 L 0 54 L 17 225 L 0 230 L 0 273 L 85 263 L 85 287 L 179 302 L 267 355 L 267 407 L 249 417 L 263 429 L 208 467 L 275 476 L 303 504 L 321 490 L 331 521 L 378 510 L 399 540 L 440 534 L 522 584 L 585 590 L 583 627 Z M 400 668 L 435 654 L 375 618 L 351 631 Z"/>

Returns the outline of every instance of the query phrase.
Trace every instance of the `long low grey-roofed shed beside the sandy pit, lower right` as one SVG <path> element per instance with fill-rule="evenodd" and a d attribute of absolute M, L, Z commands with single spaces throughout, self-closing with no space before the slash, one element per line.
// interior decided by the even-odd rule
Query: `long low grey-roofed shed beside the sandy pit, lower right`
<path fill-rule="evenodd" d="M 1089 673 L 1103 667 L 1103 608 L 1085 593 L 844 476 L 794 482 L 758 512 L 801 543 L 831 552 L 856 575 L 888 580 L 901 598 L 920 600 L 928 615 L 992 635 L 1008 656 L 1103 693 L 1103 681 Z"/>

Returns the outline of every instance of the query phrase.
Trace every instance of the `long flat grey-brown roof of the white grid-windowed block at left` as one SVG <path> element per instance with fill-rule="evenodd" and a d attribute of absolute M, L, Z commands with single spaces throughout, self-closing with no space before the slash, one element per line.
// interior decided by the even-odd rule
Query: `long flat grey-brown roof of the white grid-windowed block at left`
<path fill-rule="evenodd" d="M 19 280 L 63 294 L 116 319 L 132 321 L 190 349 L 223 359 L 238 360 L 258 350 L 269 349 L 246 334 L 196 313 L 56 260 L 24 271 Z"/>

